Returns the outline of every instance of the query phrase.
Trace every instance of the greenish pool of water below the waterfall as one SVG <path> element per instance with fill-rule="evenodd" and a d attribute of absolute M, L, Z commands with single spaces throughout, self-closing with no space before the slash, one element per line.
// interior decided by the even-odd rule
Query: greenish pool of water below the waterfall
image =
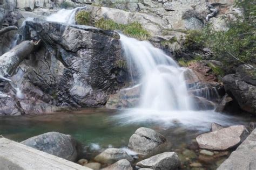
<path fill-rule="evenodd" d="M 216 116 L 219 115 L 216 114 Z M 143 126 L 160 132 L 172 143 L 171 148 L 166 148 L 167 151 L 183 154 L 184 150 L 200 133 L 210 131 L 211 125 L 210 122 L 206 121 L 203 124 L 204 128 L 202 126 L 198 126 L 200 128 L 192 125 L 187 126 L 187 123 L 182 124 L 183 119 L 179 120 L 178 117 L 175 120 L 166 119 L 171 122 L 169 124 L 163 123 L 159 119 L 157 119 L 158 121 L 150 121 L 150 119 L 134 121 L 132 118 L 127 116 L 127 112 L 123 110 L 104 108 L 90 108 L 40 116 L 0 117 L 0 134 L 15 141 L 22 141 L 38 134 L 57 131 L 71 134 L 86 146 L 100 150 L 100 148 L 107 147 L 127 147 L 130 136 L 136 129 Z M 188 120 L 186 119 L 186 121 Z M 252 121 L 252 118 L 250 116 L 236 116 L 230 117 L 226 121 L 228 121 L 226 122 L 228 125 L 247 125 L 248 122 Z M 198 154 L 198 150 L 193 152 Z M 215 164 L 214 166 L 211 164 L 211 168 L 209 165 L 204 166 L 208 167 L 207 169 L 215 168 Z"/>

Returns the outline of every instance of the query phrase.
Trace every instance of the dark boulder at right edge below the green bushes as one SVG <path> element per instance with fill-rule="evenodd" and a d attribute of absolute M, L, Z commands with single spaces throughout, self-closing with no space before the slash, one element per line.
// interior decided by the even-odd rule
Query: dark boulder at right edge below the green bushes
<path fill-rule="evenodd" d="M 241 65 L 236 74 L 228 74 L 223 78 L 227 94 L 237 101 L 244 111 L 256 113 L 256 70 Z"/>

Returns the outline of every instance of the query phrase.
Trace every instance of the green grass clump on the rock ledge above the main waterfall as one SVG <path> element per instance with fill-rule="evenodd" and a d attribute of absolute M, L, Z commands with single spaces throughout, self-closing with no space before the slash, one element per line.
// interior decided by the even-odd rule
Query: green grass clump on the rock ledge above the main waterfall
<path fill-rule="evenodd" d="M 151 34 L 143 28 L 142 24 L 138 22 L 133 22 L 130 24 L 118 24 L 111 19 L 101 18 L 95 22 L 95 26 L 104 30 L 121 31 L 127 36 L 137 38 L 139 40 L 151 39 Z"/>

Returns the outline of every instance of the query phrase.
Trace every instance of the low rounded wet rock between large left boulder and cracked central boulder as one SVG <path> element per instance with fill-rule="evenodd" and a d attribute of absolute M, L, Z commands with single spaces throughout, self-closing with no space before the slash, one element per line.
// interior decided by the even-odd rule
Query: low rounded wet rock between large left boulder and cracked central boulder
<path fill-rule="evenodd" d="M 113 164 L 121 159 L 132 161 L 132 157 L 119 148 L 107 148 L 95 157 L 97 162 L 102 162 L 104 164 Z"/>

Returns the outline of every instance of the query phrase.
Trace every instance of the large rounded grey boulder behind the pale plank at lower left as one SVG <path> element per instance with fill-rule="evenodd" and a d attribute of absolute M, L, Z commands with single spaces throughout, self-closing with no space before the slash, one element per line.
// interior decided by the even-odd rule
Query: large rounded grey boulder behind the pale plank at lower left
<path fill-rule="evenodd" d="M 75 161 L 78 155 L 75 139 L 63 133 L 48 132 L 26 139 L 21 143 L 70 161 Z"/>

